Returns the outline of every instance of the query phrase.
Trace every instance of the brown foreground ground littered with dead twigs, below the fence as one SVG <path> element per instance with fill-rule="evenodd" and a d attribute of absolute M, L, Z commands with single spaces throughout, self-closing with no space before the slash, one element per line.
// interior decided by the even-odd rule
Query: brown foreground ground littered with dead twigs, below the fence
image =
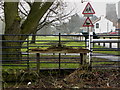
<path fill-rule="evenodd" d="M 33 73 L 32 73 L 33 74 Z M 32 75 L 31 74 L 31 75 Z M 49 71 L 41 72 L 39 75 L 34 74 L 31 77 L 34 80 L 28 80 L 27 82 L 19 82 L 16 85 L 6 87 L 5 90 L 13 90 L 17 88 L 19 90 L 35 90 L 35 89 L 80 89 L 80 88 L 113 88 L 120 90 L 120 70 L 82 70 L 77 69 L 72 72 Z M 29 77 L 29 76 L 25 76 Z M 24 77 L 24 78 L 25 78 Z M 29 77 L 30 78 L 30 77 Z"/>

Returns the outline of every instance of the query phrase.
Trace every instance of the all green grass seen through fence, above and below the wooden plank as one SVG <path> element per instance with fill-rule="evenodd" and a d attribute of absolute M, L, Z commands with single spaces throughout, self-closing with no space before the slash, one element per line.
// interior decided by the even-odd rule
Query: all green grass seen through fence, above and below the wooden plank
<path fill-rule="evenodd" d="M 31 40 L 31 37 L 29 38 Z M 59 40 L 58 37 L 53 37 L 53 36 L 46 36 L 46 37 L 37 37 L 37 40 Z M 68 39 L 68 38 L 61 38 L 62 41 L 65 41 L 65 40 L 72 40 L 72 39 Z M 51 46 L 51 45 L 54 45 L 54 44 L 57 44 L 58 42 L 51 42 L 51 41 L 48 41 L 48 42 L 36 42 L 35 44 L 29 44 L 29 49 L 32 49 L 32 48 L 42 48 L 42 49 L 46 49 L 47 47 L 40 47 L 40 46 Z M 85 43 L 84 42 L 65 42 L 65 43 L 62 43 L 66 46 L 85 46 Z M 25 47 L 27 45 L 27 43 L 24 43 L 23 46 Z M 77 47 L 74 47 L 74 48 L 77 48 Z M 84 47 L 83 47 L 84 48 Z M 97 46 L 95 45 L 94 48 L 104 48 L 104 47 L 101 47 L 101 46 Z M 27 51 L 27 48 L 22 48 L 22 52 L 26 52 Z M 114 54 L 114 55 L 119 55 L 120 52 L 117 52 L 117 51 L 93 51 L 94 53 L 105 53 L 105 54 Z M 29 55 L 30 57 L 34 57 L 36 58 L 35 54 L 30 54 Z M 44 57 L 48 57 L 48 56 L 45 56 L 43 55 Z M 23 57 L 25 57 L 25 55 L 23 55 Z M 70 56 L 69 56 L 70 57 Z M 75 56 L 71 56 L 71 57 L 75 57 Z M 36 59 L 35 59 L 36 60 Z M 33 61 L 29 61 L 29 67 L 30 68 L 36 68 L 36 61 L 33 60 Z M 96 59 L 96 58 L 93 58 L 93 60 L 104 60 L 104 59 Z M 45 62 L 45 61 L 44 61 Z M 46 61 L 47 62 L 47 61 Z M 93 63 L 93 64 L 114 64 L 113 62 L 97 62 L 97 63 Z M 4 64 L 4 65 L 7 65 L 7 64 Z M 10 65 L 10 64 L 8 64 Z M 16 64 L 11 64 L 11 65 L 16 65 Z M 24 62 L 24 63 L 17 63 L 18 66 L 3 66 L 2 68 L 3 69 L 27 69 L 28 65 L 27 65 L 27 61 Z M 20 65 L 20 66 L 19 66 Z M 61 64 L 61 68 L 78 68 L 80 66 L 79 63 L 62 63 Z M 59 67 L 59 64 L 58 63 L 41 63 L 40 64 L 40 68 L 58 68 Z"/>

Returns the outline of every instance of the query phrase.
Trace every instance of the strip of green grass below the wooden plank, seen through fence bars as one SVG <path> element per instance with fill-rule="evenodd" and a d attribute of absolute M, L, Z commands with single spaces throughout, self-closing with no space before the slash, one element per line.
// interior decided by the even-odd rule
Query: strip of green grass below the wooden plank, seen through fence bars
<path fill-rule="evenodd" d="M 43 55 L 42 57 L 48 57 L 47 55 Z M 54 55 L 54 57 L 58 57 L 58 55 Z M 74 55 L 72 56 L 66 56 L 66 57 L 75 57 Z M 76 56 L 79 57 L 79 56 Z M 88 58 L 88 57 L 87 57 Z M 42 68 L 59 68 L 59 61 L 57 59 L 51 59 L 51 60 L 41 60 L 40 62 L 40 69 Z M 72 62 L 74 60 L 70 60 L 70 59 L 61 59 L 61 62 Z M 79 59 L 76 59 L 75 61 L 77 61 L 78 63 L 61 63 L 60 64 L 60 68 L 79 68 L 81 65 L 79 63 Z M 106 65 L 106 64 L 117 64 L 117 62 L 106 62 L 108 61 L 107 59 L 101 59 L 101 58 L 92 58 L 92 65 Z M 102 62 L 95 62 L 95 61 L 102 61 Z M 43 63 L 44 62 L 44 63 Z M 48 63 L 48 62 L 56 62 L 56 63 Z M 18 65 L 18 66 L 3 66 L 3 70 L 7 70 L 7 69 L 24 69 L 27 70 L 28 69 L 28 65 L 27 62 L 22 62 L 19 64 L 4 64 L 4 65 Z M 19 65 L 24 65 L 24 66 L 19 66 Z M 37 61 L 36 59 L 29 61 L 29 69 L 30 70 L 36 70 L 37 67 Z"/>

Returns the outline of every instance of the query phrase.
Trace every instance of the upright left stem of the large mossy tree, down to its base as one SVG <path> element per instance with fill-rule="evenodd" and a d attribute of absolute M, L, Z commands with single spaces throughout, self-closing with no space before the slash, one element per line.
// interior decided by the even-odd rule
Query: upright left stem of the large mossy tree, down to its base
<path fill-rule="evenodd" d="M 18 14 L 18 2 L 5 2 L 5 35 L 2 40 L 2 62 L 18 62 L 21 60 L 21 36 L 20 17 Z M 10 35 L 8 35 L 10 34 Z M 13 36 L 11 35 L 13 34 Z"/>

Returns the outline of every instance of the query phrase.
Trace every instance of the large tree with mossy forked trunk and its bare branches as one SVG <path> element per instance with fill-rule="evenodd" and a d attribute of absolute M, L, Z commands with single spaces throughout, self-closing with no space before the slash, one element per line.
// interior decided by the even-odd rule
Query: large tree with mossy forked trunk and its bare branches
<path fill-rule="evenodd" d="M 6 0 L 4 0 L 6 1 Z M 28 35 L 36 33 L 38 30 L 46 25 L 55 25 L 55 22 L 65 20 L 70 16 L 70 13 L 64 14 L 63 10 L 65 4 L 62 1 L 53 0 L 54 2 L 0 2 L 0 9 L 2 11 L 1 19 L 5 23 L 4 40 L 25 40 Z M 53 23 L 54 22 L 54 23 Z M 7 34 L 14 34 L 14 36 L 6 36 Z M 19 36 L 27 34 L 27 36 Z M 4 47 L 21 47 L 23 42 L 3 42 Z M 9 53 L 21 52 L 21 48 L 3 48 L 3 57 L 8 60 L 11 57 L 19 58 L 18 55 L 10 55 Z"/>

